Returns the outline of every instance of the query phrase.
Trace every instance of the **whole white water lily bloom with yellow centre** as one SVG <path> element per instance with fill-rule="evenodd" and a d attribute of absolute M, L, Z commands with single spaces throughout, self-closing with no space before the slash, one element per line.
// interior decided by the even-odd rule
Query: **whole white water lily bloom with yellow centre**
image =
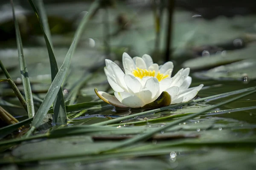
<path fill-rule="evenodd" d="M 166 62 L 162 66 L 153 63 L 152 58 L 144 54 L 143 57 L 131 58 L 127 53 L 122 55 L 124 71 L 116 63 L 105 60 L 104 68 L 108 82 L 113 88 L 112 96 L 103 91 L 95 92 L 103 101 L 116 107 L 140 108 L 154 102 L 163 91 L 168 92 L 171 100 L 169 104 L 187 102 L 193 99 L 203 84 L 189 88 L 192 78 L 189 77 L 189 68 L 180 71 L 171 77 L 173 63 Z"/>

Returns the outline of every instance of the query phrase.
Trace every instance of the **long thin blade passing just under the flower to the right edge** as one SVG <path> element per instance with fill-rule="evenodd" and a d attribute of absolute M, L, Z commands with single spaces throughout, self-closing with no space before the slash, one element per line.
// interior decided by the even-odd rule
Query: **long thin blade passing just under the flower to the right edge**
<path fill-rule="evenodd" d="M 255 89 L 256 89 L 256 87 L 244 88 L 244 89 L 240 89 L 240 90 L 237 90 L 237 91 L 231 91 L 231 92 L 227 92 L 227 93 L 223 93 L 223 94 L 217 94 L 217 95 L 214 95 L 214 96 L 205 97 L 205 98 L 202 98 L 202 99 L 190 100 L 188 102 L 178 103 L 178 104 L 175 104 L 175 105 L 169 105 L 169 106 L 166 106 L 166 107 L 163 107 L 163 108 L 157 108 L 157 109 L 153 109 L 153 110 L 150 110 L 150 111 L 145 111 L 145 112 L 141 112 L 141 113 L 132 114 L 132 115 L 129 115 L 129 116 L 124 116 L 124 117 L 120 117 L 120 118 L 116 118 L 116 119 L 107 120 L 105 122 L 95 123 L 92 126 L 108 125 L 108 124 L 111 124 L 111 123 L 121 122 L 122 120 L 125 120 L 125 119 L 134 118 L 136 116 L 142 116 L 142 115 L 145 115 L 145 114 L 148 114 L 148 113 L 156 113 L 156 112 L 160 112 L 160 111 L 166 111 L 166 110 L 169 110 L 170 108 L 176 108 L 176 107 L 182 106 L 182 105 L 188 105 L 188 104 L 191 104 L 191 103 L 202 102 L 202 101 L 207 101 L 207 100 L 208 101 L 215 100 L 215 99 L 219 99 L 219 98 L 222 98 L 222 97 L 231 96 L 231 95 L 234 95 L 234 94 L 244 93 L 246 91 L 252 91 L 252 90 L 255 90 Z"/>

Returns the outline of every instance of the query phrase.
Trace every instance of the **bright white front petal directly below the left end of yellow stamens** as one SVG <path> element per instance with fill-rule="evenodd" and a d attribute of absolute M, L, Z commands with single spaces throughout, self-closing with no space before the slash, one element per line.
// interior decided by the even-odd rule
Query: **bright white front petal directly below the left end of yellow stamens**
<path fill-rule="evenodd" d="M 124 80 L 127 85 L 129 93 L 136 94 L 140 92 L 141 84 L 136 77 L 130 74 L 125 74 Z"/>

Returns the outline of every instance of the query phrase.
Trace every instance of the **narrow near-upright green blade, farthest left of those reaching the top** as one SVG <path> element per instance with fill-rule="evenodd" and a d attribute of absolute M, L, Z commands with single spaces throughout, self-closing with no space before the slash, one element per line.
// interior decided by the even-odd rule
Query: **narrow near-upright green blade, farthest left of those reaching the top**
<path fill-rule="evenodd" d="M 14 25 L 15 25 L 15 33 L 16 33 L 16 41 L 17 41 L 17 49 L 18 49 L 18 56 L 19 56 L 19 63 L 20 63 L 20 72 L 21 72 L 21 79 L 22 84 L 24 88 L 25 98 L 27 102 L 27 111 L 29 117 L 33 117 L 35 115 L 35 108 L 34 108 L 34 102 L 33 102 L 33 96 L 31 91 L 31 86 L 29 82 L 29 74 L 26 66 L 25 57 L 23 54 L 23 45 L 20 37 L 20 30 L 19 25 L 15 17 L 15 9 L 13 2 L 11 0 L 12 5 L 12 14 L 14 19 Z"/>

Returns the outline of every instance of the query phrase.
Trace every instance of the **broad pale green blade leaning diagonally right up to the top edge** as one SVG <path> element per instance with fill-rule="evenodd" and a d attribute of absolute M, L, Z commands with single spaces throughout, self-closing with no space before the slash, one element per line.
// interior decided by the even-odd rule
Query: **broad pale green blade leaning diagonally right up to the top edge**
<path fill-rule="evenodd" d="M 32 1 L 29 0 L 29 2 L 32 2 Z M 90 6 L 88 14 L 81 21 L 79 28 L 76 31 L 74 40 L 70 46 L 70 49 L 68 50 L 67 55 L 64 59 L 64 62 L 61 65 L 61 68 L 59 69 L 56 77 L 54 78 L 54 80 L 44 98 L 44 101 L 42 102 L 40 108 L 38 109 L 37 114 L 31 123 L 31 129 L 26 134 L 26 137 L 30 136 L 30 134 L 35 130 L 35 128 L 41 125 L 41 122 L 43 121 L 49 108 L 51 107 L 52 103 L 54 102 L 55 97 L 57 96 L 58 91 L 61 88 L 61 84 L 63 83 L 64 78 L 67 74 L 67 69 L 70 64 L 70 59 L 73 55 L 73 51 L 76 48 L 78 40 L 81 37 L 82 30 L 83 30 L 85 24 L 87 23 L 87 21 L 89 20 L 90 16 L 93 14 L 93 11 L 95 11 L 96 8 L 98 7 L 98 5 L 99 5 L 99 1 L 98 0 L 94 1 L 93 4 Z"/>

